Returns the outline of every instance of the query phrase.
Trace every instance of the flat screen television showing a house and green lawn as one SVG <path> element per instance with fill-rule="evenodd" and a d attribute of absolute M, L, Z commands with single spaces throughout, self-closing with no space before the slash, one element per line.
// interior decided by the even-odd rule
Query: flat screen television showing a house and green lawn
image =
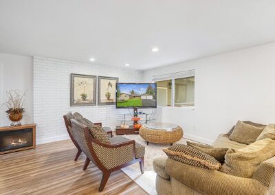
<path fill-rule="evenodd" d="M 157 84 L 117 83 L 116 108 L 156 108 Z"/>

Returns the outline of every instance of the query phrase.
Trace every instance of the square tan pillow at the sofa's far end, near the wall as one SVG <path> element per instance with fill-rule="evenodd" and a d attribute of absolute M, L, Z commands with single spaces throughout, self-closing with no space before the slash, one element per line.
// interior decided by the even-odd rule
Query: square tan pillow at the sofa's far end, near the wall
<path fill-rule="evenodd" d="M 229 139 L 241 144 L 252 144 L 262 131 L 263 127 L 256 127 L 238 121 Z"/>

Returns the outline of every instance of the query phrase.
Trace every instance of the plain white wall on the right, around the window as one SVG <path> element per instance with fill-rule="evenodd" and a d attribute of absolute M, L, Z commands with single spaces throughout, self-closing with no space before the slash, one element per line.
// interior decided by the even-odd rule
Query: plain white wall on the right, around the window
<path fill-rule="evenodd" d="M 162 108 L 162 121 L 181 125 L 185 137 L 210 143 L 238 119 L 275 123 L 275 43 L 147 70 L 144 81 L 190 69 L 195 110 Z"/>

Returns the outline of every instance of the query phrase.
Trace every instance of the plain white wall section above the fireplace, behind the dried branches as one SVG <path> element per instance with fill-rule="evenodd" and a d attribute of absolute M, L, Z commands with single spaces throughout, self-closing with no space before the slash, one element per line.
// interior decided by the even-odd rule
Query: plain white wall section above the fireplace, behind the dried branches
<path fill-rule="evenodd" d="M 7 101 L 6 91 L 27 91 L 22 124 L 33 122 L 32 67 L 30 56 L 0 54 L 0 104 Z M 0 105 L 0 126 L 9 126 L 11 123 L 5 114 L 6 110 L 5 106 Z"/>

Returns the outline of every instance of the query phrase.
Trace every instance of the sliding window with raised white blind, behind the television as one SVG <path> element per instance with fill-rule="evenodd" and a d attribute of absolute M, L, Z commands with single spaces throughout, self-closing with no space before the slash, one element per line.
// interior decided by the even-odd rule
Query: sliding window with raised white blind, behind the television
<path fill-rule="evenodd" d="M 157 83 L 158 106 L 194 106 L 195 73 L 185 71 L 162 76 L 154 76 Z"/>

